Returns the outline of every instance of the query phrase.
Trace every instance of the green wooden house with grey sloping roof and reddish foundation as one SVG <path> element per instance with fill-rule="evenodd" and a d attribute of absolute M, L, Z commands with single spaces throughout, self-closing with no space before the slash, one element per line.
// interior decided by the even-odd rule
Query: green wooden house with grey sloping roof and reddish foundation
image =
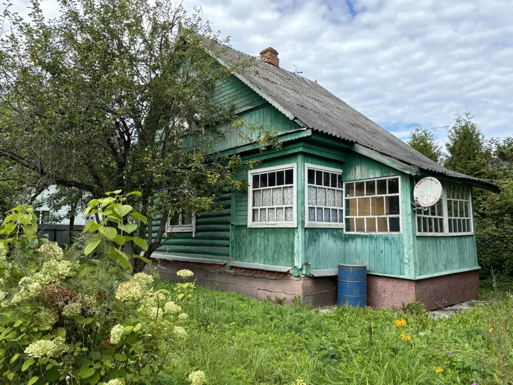
<path fill-rule="evenodd" d="M 224 49 L 220 63 L 247 57 Z M 223 153 L 261 163 L 241 175 L 247 192 L 222 197 L 224 209 L 169 223 L 173 237 L 153 255 L 164 277 L 189 268 L 199 284 L 326 305 L 336 300 L 338 264 L 365 264 L 374 307 L 476 298 L 472 188 L 497 186 L 424 157 L 317 82 L 280 68 L 272 48 L 215 98 L 248 127 L 277 129 L 281 148 L 260 152 L 227 131 Z M 443 197 L 419 210 L 413 187 L 426 176 L 441 181 Z"/>

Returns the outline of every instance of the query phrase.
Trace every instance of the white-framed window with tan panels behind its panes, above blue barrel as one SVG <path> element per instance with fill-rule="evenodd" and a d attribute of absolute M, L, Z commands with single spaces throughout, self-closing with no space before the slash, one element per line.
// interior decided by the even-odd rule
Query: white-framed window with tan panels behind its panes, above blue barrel
<path fill-rule="evenodd" d="M 400 177 L 344 182 L 346 233 L 401 233 Z"/>

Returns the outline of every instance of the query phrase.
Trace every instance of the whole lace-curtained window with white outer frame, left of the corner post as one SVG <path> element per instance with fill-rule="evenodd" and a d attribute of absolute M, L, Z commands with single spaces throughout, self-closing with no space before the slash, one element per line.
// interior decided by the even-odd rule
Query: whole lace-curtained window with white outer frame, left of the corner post
<path fill-rule="evenodd" d="M 295 164 L 248 171 L 248 227 L 296 227 Z"/>

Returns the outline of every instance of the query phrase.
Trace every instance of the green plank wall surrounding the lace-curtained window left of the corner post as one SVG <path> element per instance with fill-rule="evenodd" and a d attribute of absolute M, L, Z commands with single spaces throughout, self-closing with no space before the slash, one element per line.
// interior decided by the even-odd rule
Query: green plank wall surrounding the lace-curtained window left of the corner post
<path fill-rule="evenodd" d="M 262 162 L 256 169 L 297 164 L 298 161 L 299 155 L 274 158 Z M 247 171 L 238 177 L 247 181 Z M 298 186 L 298 194 L 299 191 Z M 234 249 L 231 258 L 239 262 L 294 266 L 298 228 L 248 228 L 248 191 L 234 194 Z"/>

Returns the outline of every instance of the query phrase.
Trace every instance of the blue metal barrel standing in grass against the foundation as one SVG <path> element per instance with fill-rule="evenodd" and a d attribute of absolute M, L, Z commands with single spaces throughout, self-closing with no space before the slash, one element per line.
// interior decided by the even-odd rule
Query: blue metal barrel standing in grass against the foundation
<path fill-rule="evenodd" d="M 339 264 L 337 305 L 367 305 L 367 266 Z"/>

